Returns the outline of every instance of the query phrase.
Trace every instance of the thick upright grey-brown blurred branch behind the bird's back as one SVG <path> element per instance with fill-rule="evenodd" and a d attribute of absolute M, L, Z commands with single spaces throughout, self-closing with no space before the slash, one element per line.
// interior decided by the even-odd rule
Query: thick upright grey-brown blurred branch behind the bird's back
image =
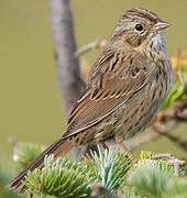
<path fill-rule="evenodd" d="M 82 92 L 77 44 L 69 0 L 50 0 L 51 24 L 56 51 L 57 78 L 68 116 Z"/>

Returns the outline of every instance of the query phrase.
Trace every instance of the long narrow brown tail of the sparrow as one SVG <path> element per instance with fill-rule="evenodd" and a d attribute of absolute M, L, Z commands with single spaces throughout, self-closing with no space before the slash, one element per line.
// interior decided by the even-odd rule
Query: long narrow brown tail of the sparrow
<path fill-rule="evenodd" d="M 25 180 L 25 176 L 29 170 L 34 170 L 35 168 L 42 169 L 44 166 L 45 155 L 54 154 L 55 158 L 58 156 L 64 156 L 69 152 L 72 147 L 76 145 L 76 138 L 69 136 L 67 139 L 59 139 L 48 146 L 36 160 L 34 160 L 30 165 L 28 165 L 10 184 L 9 187 L 18 189 L 21 186 L 20 193 L 23 194 L 28 188 L 23 186 L 22 183 Z"/>

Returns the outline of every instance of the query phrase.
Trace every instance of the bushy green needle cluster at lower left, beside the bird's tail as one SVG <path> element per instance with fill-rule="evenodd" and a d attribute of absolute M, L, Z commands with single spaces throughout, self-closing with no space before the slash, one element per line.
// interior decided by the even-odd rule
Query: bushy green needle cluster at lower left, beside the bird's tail
<path fill-rule="evenodd" d="M 54 161 L 54 156 L 45 157 L 44 168 L 29 172 L 26 186 L 35 195 L 51 195 L 54 197 L 75 198 L 91 197 L 88 187 L 89 177 L 84 166 L 73 160 L 63 157 Z"/>

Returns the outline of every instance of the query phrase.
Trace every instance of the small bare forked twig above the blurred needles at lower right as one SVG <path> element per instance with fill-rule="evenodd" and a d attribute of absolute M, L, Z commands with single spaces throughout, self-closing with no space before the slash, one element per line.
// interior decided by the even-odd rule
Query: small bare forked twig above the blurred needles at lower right
<path fill-rule="evenodd" d="M 152 160 L 158 160 L 158 158 L 168 158 L 168 163 L 174 166 L 175 175 L 179 176 L 179 167 L 185 165 L 185 161 L 180 161 L 178 158 L 175 158 L 172 154 L 168 153 L 160 153 L 155 156 L 151 157 Z"/>

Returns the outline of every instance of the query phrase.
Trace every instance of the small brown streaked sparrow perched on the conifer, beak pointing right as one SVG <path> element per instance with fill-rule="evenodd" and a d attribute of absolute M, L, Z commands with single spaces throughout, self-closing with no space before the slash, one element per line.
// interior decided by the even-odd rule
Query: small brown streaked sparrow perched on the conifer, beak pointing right
<path fill-rule="evenodd" d="M 28 170 L 42 168 L 45 155 L 65 155 L 90 142 L 122 144 L 145 130 L 164 103 L 174 80 L 163 30 L 168 23 L 144 9 L 128 10 L 94 64 L 64 135 L 11 183 L 24 193 Z"/>

